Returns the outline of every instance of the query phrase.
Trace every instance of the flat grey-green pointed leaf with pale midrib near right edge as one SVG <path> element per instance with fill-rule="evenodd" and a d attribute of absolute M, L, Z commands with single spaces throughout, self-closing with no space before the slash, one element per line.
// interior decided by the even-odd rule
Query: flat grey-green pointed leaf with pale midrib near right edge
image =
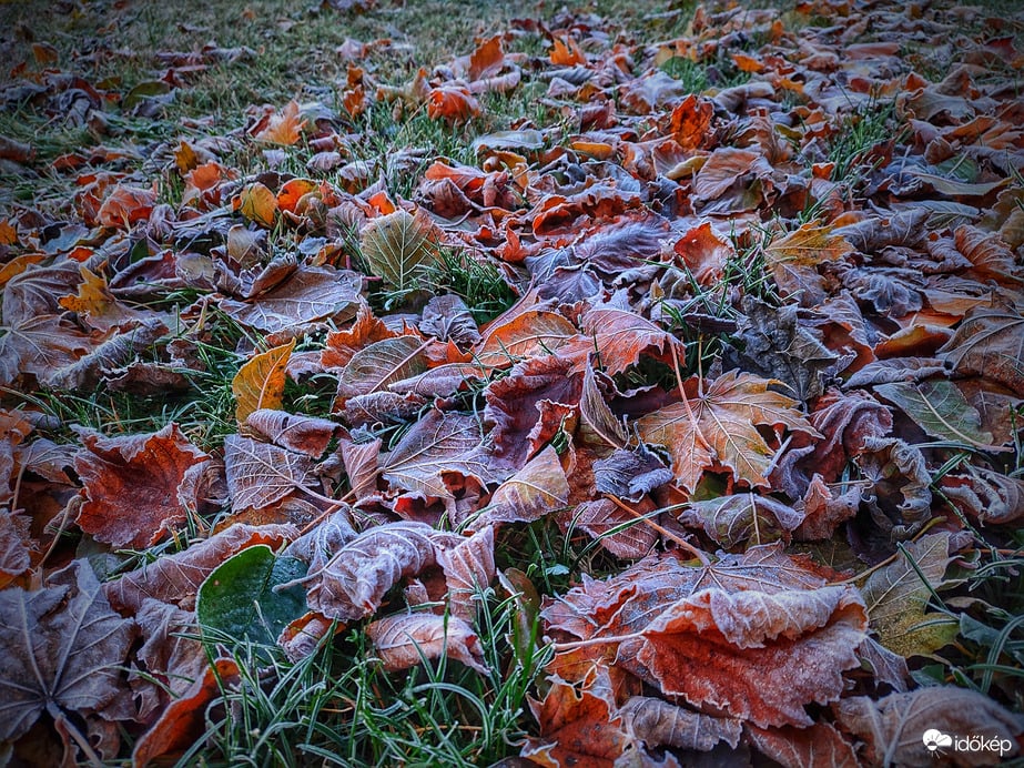
<path fill-rule="evenodd" d="M 953 382 L 927 380 L 920 384 L 894 382 L 874 387 L 882 397 L 903 412 L 932 437 L 998 449 L 992 433 L 982 428 L 981 414 Z"/>

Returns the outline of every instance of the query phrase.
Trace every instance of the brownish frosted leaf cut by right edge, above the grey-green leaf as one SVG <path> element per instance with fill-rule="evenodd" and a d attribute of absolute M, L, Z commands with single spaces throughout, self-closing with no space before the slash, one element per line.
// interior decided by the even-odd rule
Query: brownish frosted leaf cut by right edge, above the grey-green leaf
<path fill-rule="evenodd" d="M 1024 316 L 1016 309 L 972 310 L 939 356 L 960 374 L 1024 392 Z"/>

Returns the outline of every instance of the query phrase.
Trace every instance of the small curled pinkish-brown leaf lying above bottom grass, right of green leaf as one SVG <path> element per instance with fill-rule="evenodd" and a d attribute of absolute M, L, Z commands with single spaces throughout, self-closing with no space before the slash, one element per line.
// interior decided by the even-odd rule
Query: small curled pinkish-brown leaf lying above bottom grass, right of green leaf
<path fill-rule="evenodd" d="M 425 613 L 387 616 L 367 625 L 366 636 L 373 641 L 387 671 L 408 669 L 442 655 L 462 661 L 481 675 L 490 671 L 484 663 L 479 637 L 473 627 L 456 616 Z"/>

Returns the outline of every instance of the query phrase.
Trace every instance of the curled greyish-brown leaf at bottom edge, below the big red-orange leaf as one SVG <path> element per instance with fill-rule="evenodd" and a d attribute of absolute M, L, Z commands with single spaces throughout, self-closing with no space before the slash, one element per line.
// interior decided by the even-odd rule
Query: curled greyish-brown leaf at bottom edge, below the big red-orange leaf
<path fill-rule="evenodd" d="M 616 715 L 626 732 L 648 747 L 706 752 L 724 741 L 734 749 L 743 732 L 739 720 L 701 715 L 649 696 L 633 696 Z"/>

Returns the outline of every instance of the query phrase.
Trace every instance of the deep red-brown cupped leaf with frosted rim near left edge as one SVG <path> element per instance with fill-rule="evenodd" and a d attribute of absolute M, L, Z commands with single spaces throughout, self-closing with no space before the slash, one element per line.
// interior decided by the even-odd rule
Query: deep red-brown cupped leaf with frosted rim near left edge
<path fill-rule="evenodd" d="M 87 435 L 74 457 L 85 503 L 78 526 L 114 547 L 153 546 L 187 517 L 180 495 L 189 467 L 207 458 L 176 424 L 124 437 Z"/>

